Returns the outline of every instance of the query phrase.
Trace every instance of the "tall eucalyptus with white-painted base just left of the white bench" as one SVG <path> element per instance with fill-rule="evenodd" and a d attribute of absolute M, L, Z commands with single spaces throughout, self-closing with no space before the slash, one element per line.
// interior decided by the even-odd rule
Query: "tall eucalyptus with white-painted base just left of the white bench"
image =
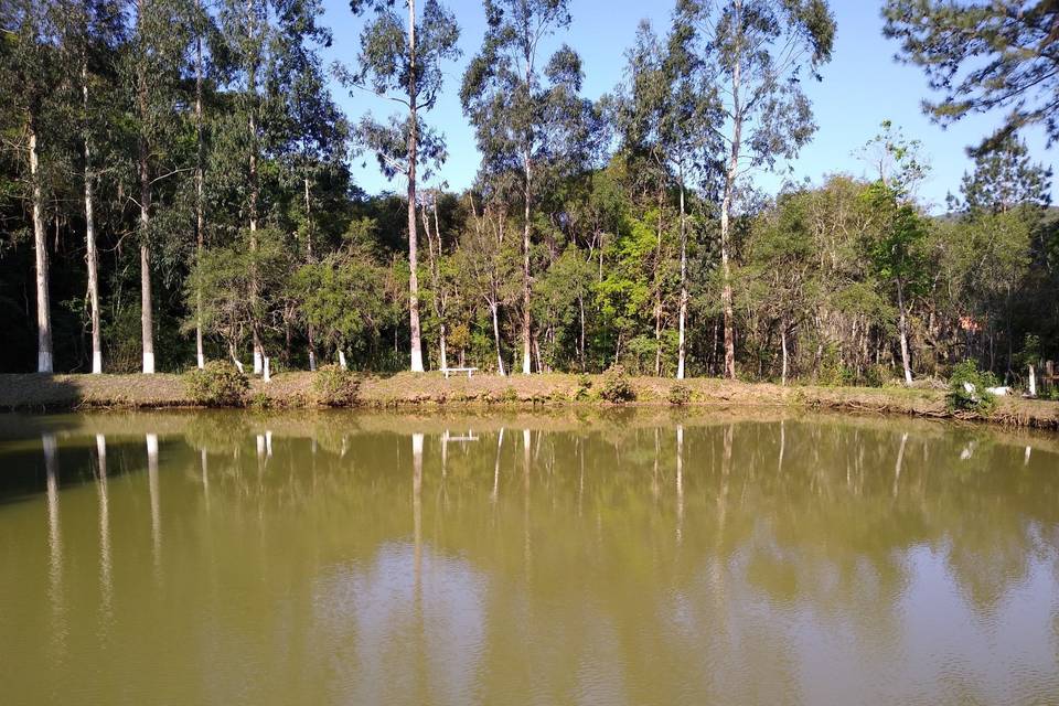
<path fill-rule="evenodd" d="M 456 17 L 437 0 L 426 0 L 417 15 L 416 0 L 406 0 L 407 20 L 394 10 L 394 0 L 350 0 L 359 13 L 375 10 L 375 18 L 361 34 L 359 85 L 371 86 L 405 106 L 403 118 L 383 125 L 366 117 L 362 122 L 365 143 L 378 157 L 387 178 L 397 174 L 407 181 L 408 197 L 408 323 L 411 331 L 411 371 L 421 373 L 422 344 L 419 325 L 418 228 L 416 186 L 421 158 L 445 157 L 441 137 L 427 129 L 421 114 L 437 103 L 442 86 L 442 63 L 457 58 L 460 36 Z"/>

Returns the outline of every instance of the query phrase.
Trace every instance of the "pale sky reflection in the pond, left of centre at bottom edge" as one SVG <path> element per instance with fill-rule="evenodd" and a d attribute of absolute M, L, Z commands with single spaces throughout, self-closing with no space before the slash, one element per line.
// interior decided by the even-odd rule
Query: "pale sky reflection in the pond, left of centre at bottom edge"
<path fill-rule="evenodd" d="M 341 703 L 474 700 L 485 634 L 485 577 L 466 560 L 413 544 L 379 547 L 374 560 L 336 567 L 313 592 L 331 648 Z M 409 645 L 417 649 L 409 651 Z"/>

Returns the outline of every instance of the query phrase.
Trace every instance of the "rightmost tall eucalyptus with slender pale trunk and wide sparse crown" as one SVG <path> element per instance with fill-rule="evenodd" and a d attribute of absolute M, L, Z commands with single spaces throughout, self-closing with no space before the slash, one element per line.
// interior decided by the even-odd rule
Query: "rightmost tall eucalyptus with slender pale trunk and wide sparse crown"
<path fill-rule="evenodd" d="M 835 21 L 826 0 L 678 0 L 675 22 L 696 29 L 700 65 L 712 71 L 726 152 L 720 202 L 725 374 L 736 376 L 731 302 L 732 214 L 750 170 L 792 159 L 816 126 L 802 90 L 831 60 Z"/>

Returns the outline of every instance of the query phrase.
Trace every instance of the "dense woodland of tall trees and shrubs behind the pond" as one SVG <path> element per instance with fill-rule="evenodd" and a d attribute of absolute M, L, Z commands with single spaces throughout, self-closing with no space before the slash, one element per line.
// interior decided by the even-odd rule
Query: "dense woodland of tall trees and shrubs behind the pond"
<path fill-rule="evenodd" d="M 352 66 L 324 65 L 320 0 L 0 9 L 2 372 L 618 363 L 880 385 L 970 359 L 1018 384 L 1059 357 L 1051 174 L 1019 137 L 1059 132 L 1055 3 L 884 3 L 935 119 L 1002 120 L 944 216 L 886 116 L 848 146 L 869 179 L 756 185 L 817 137 L 802 86 L 842 31 L 824 0 L 676 0 L 599 100 L 566 0 L 484 0 L 462 58 L 440 2 L 352 0 Z M 343 115 L 332 85 L 395 113 Z M 442 92 L 482 156 L 461 193 L 436 176 Z M 394 193 L 357 188 L 360 156 Z"/>

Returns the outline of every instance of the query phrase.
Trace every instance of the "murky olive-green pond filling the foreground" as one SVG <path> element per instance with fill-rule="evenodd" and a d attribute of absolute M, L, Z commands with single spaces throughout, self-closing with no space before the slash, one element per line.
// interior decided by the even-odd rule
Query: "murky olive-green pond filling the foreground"
<path fill-rule="evenodd" d="M 1059 704 L 1059 437 L 0 417 L 0 703 Z"/>

